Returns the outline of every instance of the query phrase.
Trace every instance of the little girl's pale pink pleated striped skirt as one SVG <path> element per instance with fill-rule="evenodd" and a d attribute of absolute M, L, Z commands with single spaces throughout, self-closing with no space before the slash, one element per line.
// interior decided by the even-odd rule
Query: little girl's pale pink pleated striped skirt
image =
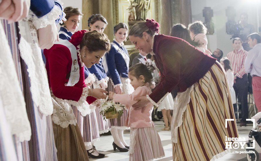
<path fill-rule="evenodd" d="M 154 127 L 130 128 L 129 161 L 146 161 L 165 156 L 160 136 Z"/>

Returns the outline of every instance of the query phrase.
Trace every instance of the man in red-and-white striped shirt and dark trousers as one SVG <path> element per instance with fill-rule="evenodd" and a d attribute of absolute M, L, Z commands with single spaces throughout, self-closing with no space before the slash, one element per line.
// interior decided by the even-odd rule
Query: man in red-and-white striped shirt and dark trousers
<path fill-rule="evenodd" d="M 231 62 L 232 70 L 234 72 L 234 90 L 241 103 L 242 119 L 240 126 L 246 126 L 246 119 L 248 119 L 248 75 L 245 73 L 244 62 L 248 54 L 242 47 L 240 38 L 233 39 L 234 50 L 228 53 L 227 57 Z"/>

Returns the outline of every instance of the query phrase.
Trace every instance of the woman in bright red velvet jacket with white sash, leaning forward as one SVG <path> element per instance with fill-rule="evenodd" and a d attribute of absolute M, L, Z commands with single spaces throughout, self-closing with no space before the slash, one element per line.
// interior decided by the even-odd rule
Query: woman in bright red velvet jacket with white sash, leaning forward
<path fill-rule="evenodd" d="M 82 116 L 90 114 L 87 100 L 104 99 L 102 89 L 89 89 L 84 83 L 84 65 L 91 67 L 110 50 L 110 41 L 97 31 L 77 31 L 70 41 L 60 40 L 44 50 L 46 71 L 54 110 L 52 114 L 58 160 L 89 160 L 71 105 Z"/>

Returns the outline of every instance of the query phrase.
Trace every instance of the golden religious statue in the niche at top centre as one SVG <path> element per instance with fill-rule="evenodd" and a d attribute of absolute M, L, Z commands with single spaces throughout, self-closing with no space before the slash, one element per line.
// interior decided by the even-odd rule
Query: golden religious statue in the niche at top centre
<path fill-rule="evenodd" d="M 150 0 L 130 0 L 128 21 L 146 20 L 149 9 Z"/>

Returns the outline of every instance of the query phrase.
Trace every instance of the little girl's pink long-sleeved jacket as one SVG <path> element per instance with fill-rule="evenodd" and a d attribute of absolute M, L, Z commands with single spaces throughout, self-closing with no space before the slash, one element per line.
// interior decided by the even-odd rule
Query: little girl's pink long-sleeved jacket
<path fill-rule="evenodd" d="M 138 87 L 132 94 L 114 94 L 113 101 L 120 102 L 123 105 L 130 106 L 128 109 L 128 117 L 125 122 L 125 126 L 131 128 L 142 128 L 142 127 L 154 127 L 154 123 L 151 120 L 151 114 L 153 105 L 149 103 L 145 107 L 133 108 L 132 105 L 138 101 L 134 98 L 146 96 L 151 93 L 149 86 Z"/>

